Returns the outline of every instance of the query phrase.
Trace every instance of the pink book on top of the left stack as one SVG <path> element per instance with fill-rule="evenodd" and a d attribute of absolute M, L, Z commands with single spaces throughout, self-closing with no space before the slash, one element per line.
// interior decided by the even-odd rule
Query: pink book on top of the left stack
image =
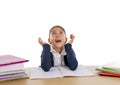
<path fill-rule="evenodd" d="M 6 65 L 11 65 L 11 64 L 19 64 L 19 63 L 24 63 L 28 62 L 29 60 L 16 57 L 13 55 L 2 55 L 0 56 L 0 66 L 6 66 Z"/>

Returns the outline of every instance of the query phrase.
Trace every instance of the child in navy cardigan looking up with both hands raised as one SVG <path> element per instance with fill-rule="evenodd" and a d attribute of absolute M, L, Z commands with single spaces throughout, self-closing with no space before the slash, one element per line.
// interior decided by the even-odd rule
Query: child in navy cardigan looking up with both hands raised
<path fill-rule="evenodd" d="M 54 26 L 50 29 L 49 44 L 39 38 L 38 42 L 43 46 L 41 68 L 44 71 L 49 71 L 53 66 L 66 65 L 70 70 L 75 70 L 78 66 L 78 61 L 72 49 L 74 38 L 75 36 L 71 34 L 71 40 L 67 42 L 66 32 L 61 26 Z"/>

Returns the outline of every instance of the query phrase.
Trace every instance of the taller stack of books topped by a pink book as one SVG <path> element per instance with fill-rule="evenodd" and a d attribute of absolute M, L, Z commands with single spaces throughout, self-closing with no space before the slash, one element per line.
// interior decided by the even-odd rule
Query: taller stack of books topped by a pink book
<path fill-rule="evenodd" d="M 28 61 L 13 55 L 0 56 L 0 81 L 27 78 L 24 63 Z"/>

